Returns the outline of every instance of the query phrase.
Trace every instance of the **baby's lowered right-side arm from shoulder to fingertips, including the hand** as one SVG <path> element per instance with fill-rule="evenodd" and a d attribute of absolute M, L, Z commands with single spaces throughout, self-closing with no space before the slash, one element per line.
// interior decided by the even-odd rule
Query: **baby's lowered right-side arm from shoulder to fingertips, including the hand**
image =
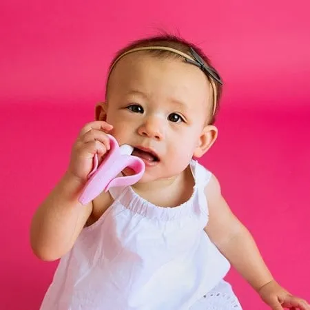
<path fill-rule="evenodd" d="M 310 310 L 301 298 L 292 296 L 273 280 L 249 231 L 234 216 L 225 202 L 215 176 L 205 188 L 209 222 L 205 231 L 223 255 L 273 310 L 283 308 Z"/>

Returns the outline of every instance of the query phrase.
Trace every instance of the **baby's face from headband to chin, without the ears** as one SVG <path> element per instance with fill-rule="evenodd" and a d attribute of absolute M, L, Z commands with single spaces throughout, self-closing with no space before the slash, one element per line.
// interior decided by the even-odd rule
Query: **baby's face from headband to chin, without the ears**
<path fill-rule="evenodd" d="M 205 74 L 178 59 L 136 52 L 114 68 L 107 89 L 106 121 L 120 145 L 143 158 L 141 181 L 182 172 L 197 147 L 209 117 L 210 86 Z"/>

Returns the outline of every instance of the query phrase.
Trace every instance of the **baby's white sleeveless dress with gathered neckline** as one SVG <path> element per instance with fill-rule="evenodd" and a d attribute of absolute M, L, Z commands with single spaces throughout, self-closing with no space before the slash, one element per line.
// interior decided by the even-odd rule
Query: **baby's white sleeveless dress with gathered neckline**
<path fill-rule="evenodd" d="M 241 309 L 223 281 L 229 262 L 203 230 L 211 173 L 190 166 L 194 191 L 178 207 L 110 189 L 114 203 L 61 258 L 41 310 Z"/>

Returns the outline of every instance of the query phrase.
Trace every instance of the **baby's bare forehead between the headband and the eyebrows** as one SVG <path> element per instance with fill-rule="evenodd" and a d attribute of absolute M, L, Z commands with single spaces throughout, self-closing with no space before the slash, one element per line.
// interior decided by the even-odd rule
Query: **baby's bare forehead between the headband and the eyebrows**
<path fill-rule="evenodd" d="M 196 92 L 209 97 L 209 80 L 196 66 L 185 63 L 174 54 L 135 52 L 124 56 L 116 63 L 107 87 L 130 87 L 138 84 L 147 88 L 164 87 L 166 91 Z M 119 91 L 119 90 L 118 90 Z"/>

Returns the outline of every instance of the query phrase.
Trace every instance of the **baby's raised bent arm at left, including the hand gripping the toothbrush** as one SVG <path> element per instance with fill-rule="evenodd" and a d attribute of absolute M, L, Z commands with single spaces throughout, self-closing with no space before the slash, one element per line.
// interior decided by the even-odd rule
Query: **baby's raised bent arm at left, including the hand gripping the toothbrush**
<path fill-rule="evenodd" d="M 93 204 L 81 205 L 78 199 L 94 155 L 103 156 L 110 149 L 105 131 L 111 129 L 103 121 L 83 127 L 72 148 L 68 171 L 34 214 L 30 242 L 34 254 L 42 260 L 56 260 L 70 251 L 92 214 Z"/>

